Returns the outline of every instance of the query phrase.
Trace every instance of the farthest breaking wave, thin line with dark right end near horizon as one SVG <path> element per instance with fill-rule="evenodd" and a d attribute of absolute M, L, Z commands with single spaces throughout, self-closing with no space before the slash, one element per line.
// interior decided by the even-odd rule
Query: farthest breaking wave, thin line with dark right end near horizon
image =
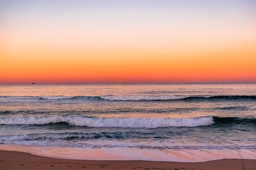
<path fill-rule="evenodd" d="M 63 96 L 63 95 L 47 95 L 47 96 L 0 96 L 11 99 L 101 99 L 110 101 L 154 101 L 154 100 L 180 100 L 180 99 L 256 99 L 256 95 L 162 95 L 162 96 L 113 96 L 113 95 L 101 95 L 101 96 Z"/>

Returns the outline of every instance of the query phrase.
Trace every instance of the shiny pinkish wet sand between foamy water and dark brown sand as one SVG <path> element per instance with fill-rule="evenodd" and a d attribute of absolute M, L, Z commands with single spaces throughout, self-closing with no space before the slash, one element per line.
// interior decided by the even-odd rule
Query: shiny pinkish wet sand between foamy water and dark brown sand
<path fill-rule="evenodd" d="M 52 146 L 27 146 L 0 144 L 0 150 L 25 152 L 31 155 L 56 159 L 90 161 L 166 161 L 206 162 L 221 159 L 256 160 L 256 150 L 189 150 L 189 149 L 140 149 L 140 148 L 61 148 Z M 125 154 L 124 154 L 125 153 Z"/>

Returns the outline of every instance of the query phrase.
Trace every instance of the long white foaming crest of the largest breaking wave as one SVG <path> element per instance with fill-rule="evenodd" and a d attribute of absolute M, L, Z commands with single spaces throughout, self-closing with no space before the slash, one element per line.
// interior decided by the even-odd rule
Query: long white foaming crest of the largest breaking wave
<path fill-rule="evenodd" d="M 88 128 L 166 128 L 166 127 L 196 127 L 213 124 L 213 117 L 194 118 L 149 118 L 149 117 L 84 117 L 84 116 L 54 116 L 54 117 L 1 117 L 4 125 L 43 125 L 65 122 L 71 126 L 86 126 Z"/>

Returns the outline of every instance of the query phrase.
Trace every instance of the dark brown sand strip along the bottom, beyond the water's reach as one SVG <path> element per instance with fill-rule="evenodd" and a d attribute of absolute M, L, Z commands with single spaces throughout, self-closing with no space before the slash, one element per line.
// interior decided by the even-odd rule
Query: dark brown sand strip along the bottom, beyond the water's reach
<path fill-rule="evenodd" d="M 164 161 L 87 161 L 40 157 L 0 150 L 0 170 L 256 170 L 256 159 L 182 163 Z"/>

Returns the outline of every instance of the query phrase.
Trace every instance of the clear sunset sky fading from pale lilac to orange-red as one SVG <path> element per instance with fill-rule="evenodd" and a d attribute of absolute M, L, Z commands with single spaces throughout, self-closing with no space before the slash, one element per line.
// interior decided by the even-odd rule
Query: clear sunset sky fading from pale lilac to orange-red
<path fill-rule="evenodd" d="M 0 84 L 256 82 L 255 0 L 1 0 Z"/>

